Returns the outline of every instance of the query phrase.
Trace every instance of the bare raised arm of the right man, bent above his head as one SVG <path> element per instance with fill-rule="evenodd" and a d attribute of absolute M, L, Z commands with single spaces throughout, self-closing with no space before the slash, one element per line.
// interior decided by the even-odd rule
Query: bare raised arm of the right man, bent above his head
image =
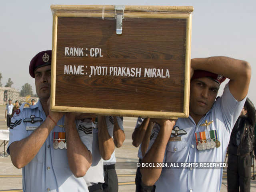
<path fill-rule="evenodd" d="M 206 70 L 229 78 L 229 90 L 234 98 L 241 101 L 246 97 L 251 78 L 251 67 L 248 62 L 215 56 L 192 59 L 191 67 L 194 70 Z"/>

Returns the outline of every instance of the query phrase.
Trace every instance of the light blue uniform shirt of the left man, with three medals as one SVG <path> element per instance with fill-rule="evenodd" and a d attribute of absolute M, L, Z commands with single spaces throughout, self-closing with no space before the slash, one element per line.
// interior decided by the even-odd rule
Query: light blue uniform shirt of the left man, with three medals
<path fill-rule="evenodd" d="M 10 129 L 8 154 L 10 154 L 9 146 L 12 142 L 22 140 L 32 134 L 33 130 L 27 130 L 28 127 L 37 128 L 46 119 L 41 102 L 29 108 L 23 107 L 24 105 L 12 118 L 13 126 Z M 32 115 L 35 119 L 41 118 L 42 121 L 24 122 L 25 118 L 31 118 Z M 76 178 L 70 170 L 67 150 L 53 148 L 54 132 L 65 132 L 63 125 L 64 117 L 57 122 L 57 126 L 50 132 L 36 156 L 22 168 L 23 192 L 88 192 L 84 179 Z M 78 130 L 78 134 L 88 150 L 92 151 L 92 133 L 85 134 L 82 130 Z"/>

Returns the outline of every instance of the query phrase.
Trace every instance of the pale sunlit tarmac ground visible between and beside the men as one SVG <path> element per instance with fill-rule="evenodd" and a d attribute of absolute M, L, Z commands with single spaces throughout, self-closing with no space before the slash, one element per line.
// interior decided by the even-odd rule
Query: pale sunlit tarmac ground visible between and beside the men
<path fill-rule="evenodd" d="M 0 130 L 7 129 L 4 121 L 5 106 L 0 106 Z M 116 172 L 118 174 L 119 192 L 135 191 L 136 163 L 138 162 L 138 148 L 132 146 L 132 132 L 137 118 L 124 117 L 124 132 L 126 139 L 123 146 L 116 148 Z M 0 140 L 0 145 L 2 144 Z M 7 145 L 6 145 L 7 147 Z M 5 148 L 6 150 L 6 148 Z M 226 160 L 227 162 L 227 160 Z M 124 165 L 124 166 L 121 166 Z M 256 172 L 256 162 L 254 159 L 254 169 Z M 253 175 L 253 167 L 252 167 Z M 223 170 L 222 185 L 220 192 L 227 191 L 227 173 Z M 12 165 L 10 156 L 5 153 L 4 144 L 0 146 L 0 192 L 22 192 L 22 169 L 17 169 Z M 256 180 L 251 180 L 251 192 L 256 192 Z"/>

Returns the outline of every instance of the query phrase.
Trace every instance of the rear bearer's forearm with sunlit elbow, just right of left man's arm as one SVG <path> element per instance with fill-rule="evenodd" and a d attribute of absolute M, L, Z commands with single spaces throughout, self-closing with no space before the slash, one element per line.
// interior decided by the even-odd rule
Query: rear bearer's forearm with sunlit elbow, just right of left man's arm
<path fill-rule="evenodd" d="M 98 116 L 98 140 L 100 155 L 104 160 L 109 160 L 114 152 L 114 141 L 108 133 L 105 116 Z"/>

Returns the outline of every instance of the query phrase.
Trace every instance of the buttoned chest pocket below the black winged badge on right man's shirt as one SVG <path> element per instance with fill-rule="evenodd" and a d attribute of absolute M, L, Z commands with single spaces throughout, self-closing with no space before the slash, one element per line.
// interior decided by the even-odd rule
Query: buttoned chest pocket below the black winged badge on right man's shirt
<path fill-rule="evenodd" d="M 179 162 L 184 160 L 186 148 L 187 142 L 184 140 L 168 142 L 166 146 L 166 162 Z"/>

